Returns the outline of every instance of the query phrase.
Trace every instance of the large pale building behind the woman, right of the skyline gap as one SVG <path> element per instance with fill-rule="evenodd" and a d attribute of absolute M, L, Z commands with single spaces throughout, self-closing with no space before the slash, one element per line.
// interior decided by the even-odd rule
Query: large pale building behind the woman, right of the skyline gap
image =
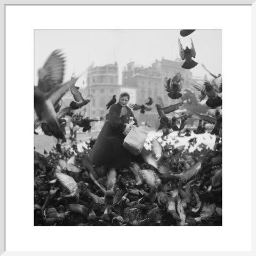
<path fill-rule="evenodd" d="M 164 78 L 173 77 L 178 72 L 184 78 L 182 91 L 188 89 L 192 78 L 191 71 L 181 68 L 183 61 L 176 59 L 175 61 L 162 58 L 161 61 L 156 60 L 150 67 L 138 67 L 134 62 L 127 63 L 122 75 L 122 86 L 136 89 L 137 104 L 145 104 L 148 97 L 154 101 L 151 106 L 153 109 L 141 114 L 140 110 L 134 111 L 135 117 L 139 124 L 147 122 L 151 126 L 158 126 L 158 114 L 155 104 L 162 99 L 164 106 L 169 106 L 180 101 L 170 99 L 165 91 Z"/>

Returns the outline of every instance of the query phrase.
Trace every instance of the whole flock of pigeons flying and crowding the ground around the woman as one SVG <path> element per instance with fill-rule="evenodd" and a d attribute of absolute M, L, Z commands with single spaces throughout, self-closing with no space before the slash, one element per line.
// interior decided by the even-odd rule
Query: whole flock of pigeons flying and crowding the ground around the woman
<path fill-rule="evenodd" d="M 181 30 L 187 36 L 195 30 Z M 192 42 L 192 41 L 191 41 Z M 183 68 L 197 65 L 191 57 L 196 52 L 183 50 L 179 39 L 181 58 L 186 60 Z M 56 147 L 49 152 L 34 152 L 34 225 L 35 226 L 221 226 L 222 225 L 222 111 L 221 75 L 202 84 L 191 84 L 201 92 L 200 99 L 208 97 L 206 104 L 209 115 L 195 113 L 198 126 L 191 132 L 186 127 L 188 115 L 167 117 L 183 104 L 167 107 L 156 103 L 162 138 L 178 131 L 190 137 L 192 133 L 203 134 L 206 123 L 213 124 L 215 135 L 213 150 L 201 145 L 192 153 L 184 146 L 165 143 L 154 138 L 151 148 L 143 148 L 141 156 L 145 163 L 133 162 L 126 169 L 106 170 L 93 166 L 89 156 L 95 139 L 86 142 L 79 151 L 77 142 L 65 147 L 59 140 L 65 139 L 65 116 L 74 125 L 91 129 L 90 122 L 104 121 L 83 118 L 74 110 L 90 103 L 75 86 L 78 77 L 63 83 L 65 59 L 61 51 L 54 51 L 38 70 L 38 85 L 35 86 L 35 129 L 41 125 L 46 135 L 58 139 Z M 208 70 L 207 70 L 208 71 Z M 164 79 L 167 95 L 171 99 L 182 96 L 183 78 L 178 73 Z M 68 91 L 74 101 L 61 109 L 61 98 Z M 116 102 L 115 95 L 106 105 L 107 109 Z M 145 104 L 131 105 L 141 113 L 152 109 L 153 99 Z M 179 126 L 178 126 L 179 125 Z M 35 132 L 36 133 L 36 132 Z M 189 140 L 193 146 L 196 138 Z M 189 146 L 190 147 L 190 146 Z"/>

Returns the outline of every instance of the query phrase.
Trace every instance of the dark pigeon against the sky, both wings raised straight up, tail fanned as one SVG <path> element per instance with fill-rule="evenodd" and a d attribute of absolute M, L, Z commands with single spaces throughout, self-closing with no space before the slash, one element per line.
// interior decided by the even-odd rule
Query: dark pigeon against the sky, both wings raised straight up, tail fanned
<path fill-rule="evenodd" d="M 185 62 L 181 67 L 185 69 L 194 68 L 198 63 L 192 59 L 192 57 L 196 58 L 196 50 L 194 48 L 192 39 L 191 39 L 191 49 L 189 49 L 188 46 L 186 46 L 186 49 L 184 50 L 180 42 L 180 38 L 178 41 L 178 45 L 179 45 L 180 58 L 182 60 L 185 60 Z"/>

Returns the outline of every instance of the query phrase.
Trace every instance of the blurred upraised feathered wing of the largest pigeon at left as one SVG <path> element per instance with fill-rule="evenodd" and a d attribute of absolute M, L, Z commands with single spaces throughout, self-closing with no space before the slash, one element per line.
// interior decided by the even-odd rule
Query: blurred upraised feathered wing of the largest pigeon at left
<path fill-rule="evenodd" d="M 65 58 L 60 50 L 55 50 L 46 60 L 43 68 L 38 70 L 38 88 L 47 93 L 62 84 L 64 70 Z"/>

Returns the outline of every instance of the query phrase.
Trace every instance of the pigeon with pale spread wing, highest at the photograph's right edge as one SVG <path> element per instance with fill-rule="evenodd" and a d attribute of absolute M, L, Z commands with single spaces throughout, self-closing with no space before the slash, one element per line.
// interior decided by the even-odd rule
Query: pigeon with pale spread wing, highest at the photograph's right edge
<path fill-rule="evenodd" d="M 219 87 L 217 84 L 205 80 L 203 83 L 193 83 L 192 86 L 203 95 L 207 95 L 206 105 L 210 108 L 217 108 L 222 105 L 222 99 L 218 96 Z"/>

